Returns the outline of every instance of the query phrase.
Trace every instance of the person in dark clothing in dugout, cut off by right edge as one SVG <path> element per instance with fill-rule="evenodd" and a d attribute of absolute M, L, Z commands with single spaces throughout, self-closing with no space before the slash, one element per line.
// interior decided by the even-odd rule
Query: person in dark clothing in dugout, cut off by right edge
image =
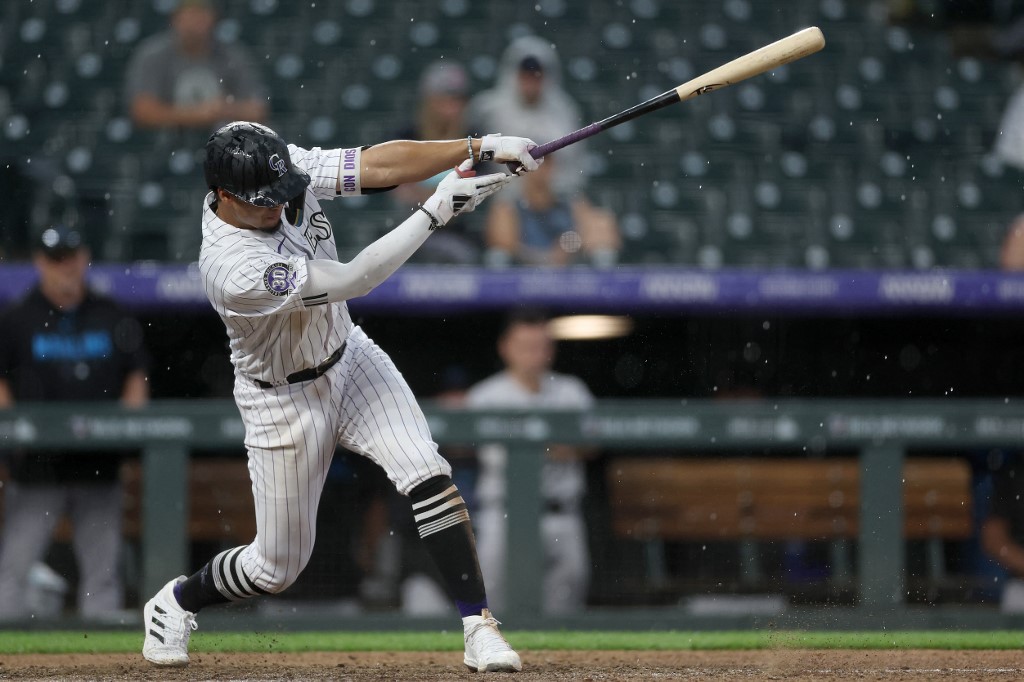
<path fill-rule="evenodd" d="M 981 526 L 981 547 L 1006 568 L 1009 580 L 1002 589 L 1001 608 L 1024 612 L 1024 462 L 1008 459 L 992 472 L 992 497 L 988 517 Z"/>

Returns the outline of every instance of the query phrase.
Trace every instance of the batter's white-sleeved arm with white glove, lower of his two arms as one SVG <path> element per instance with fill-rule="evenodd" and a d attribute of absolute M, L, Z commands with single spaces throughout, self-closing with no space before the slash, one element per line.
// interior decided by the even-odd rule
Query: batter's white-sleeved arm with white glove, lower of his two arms
<path fill-rule="evenodd" d="M 468 170 L 468 165 L 464 164 Z M 504 187 L 511 175 L 494 173 L 460 177 L 453 171 L 430 199 L 401 224 L 360 251 L 351 261 L 306 262 L 301 294 L 304 301 L 344 301 L 365 296 L 409 260 L 430 232 L 460 213 L 468 213 Z"/>

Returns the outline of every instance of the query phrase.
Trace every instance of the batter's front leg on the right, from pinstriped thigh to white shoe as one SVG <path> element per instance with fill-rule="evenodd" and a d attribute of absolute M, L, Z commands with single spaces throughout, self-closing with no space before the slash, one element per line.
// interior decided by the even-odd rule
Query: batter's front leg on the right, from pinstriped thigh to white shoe
<path fill-rule="evenodd" d="M 469 511 L 423 411 L 391 358 L 361 330 L 348 342 L 339 441 L 379 464 L 410 497 L 420 538 L 463 616 L 466 665 L 479 672 L 520 670 L 519 655 L 487 609 Z"/>

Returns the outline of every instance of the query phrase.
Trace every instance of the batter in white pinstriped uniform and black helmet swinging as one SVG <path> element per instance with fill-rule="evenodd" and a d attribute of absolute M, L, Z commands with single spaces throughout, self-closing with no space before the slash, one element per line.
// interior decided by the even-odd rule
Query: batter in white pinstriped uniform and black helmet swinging
<path fill-rule="evenodd" d="M 465 664 L 518 671 L 498 630 L 477 563 L 466 505 L 452 468 L 388 355 L 352 323 L 345 301 L 372 291 L 431 231 L 475 209 L 511 175 L 470 175 L 480 160 L 538 162 L 522 137 L 301 148 L 248 122 L 206 145 L 200 273 L 227 329 L 234 400 L 246 426 L 256 538 L 164 586 L 144 607 L 142 655 L 188 663 L 196 613 L 205 606 L 275 594 L 305 567 L 316 506 L 341 443 L 382 467 L 412 501 L 416 524 L 463 616 Z M 391 188 L 459 165 L 401 224 L 350 262 L 337 260 L 319 202 Z"/>

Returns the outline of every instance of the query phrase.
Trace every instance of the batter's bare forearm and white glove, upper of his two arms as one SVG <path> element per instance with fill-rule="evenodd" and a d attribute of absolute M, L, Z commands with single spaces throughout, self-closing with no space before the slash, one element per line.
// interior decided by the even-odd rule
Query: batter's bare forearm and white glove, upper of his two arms
<path fill-rule="evenodd" d="M 473 161 L 518 163 L 526 171 L 536 170 L 540 163 L 529 156 L 537 146 L 526 137 L 484 135 L 479 138 L 452 140 L 397 139 L 362 150 L 359 159 L 359 180 L 364 189 L 393 187 L 407 182 L 421 182 L 443 170 L 454 168 L 469 158 Z M 338 178 L 338 191 L 342 178 Z"/>

